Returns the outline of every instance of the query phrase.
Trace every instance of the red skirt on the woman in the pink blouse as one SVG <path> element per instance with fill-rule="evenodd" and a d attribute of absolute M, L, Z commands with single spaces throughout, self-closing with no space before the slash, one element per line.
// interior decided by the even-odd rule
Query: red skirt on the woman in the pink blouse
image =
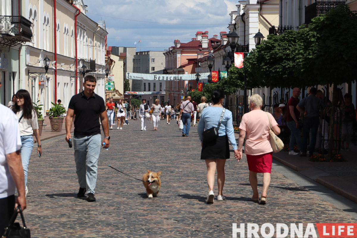
<path fill-rule="evenodd" d="M 247 155 L 248 168 L 255 173 L 271 173 L 273 152 L 262 155 Z"/>

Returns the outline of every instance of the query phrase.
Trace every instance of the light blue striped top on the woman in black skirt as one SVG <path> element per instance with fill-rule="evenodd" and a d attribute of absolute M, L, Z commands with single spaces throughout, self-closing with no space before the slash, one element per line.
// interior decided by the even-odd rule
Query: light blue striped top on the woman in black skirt
<path fill-rule="evenodd" d="M 202 142 L 202 133 L 204 130 L 208 130 L 212 127 L 218 127 L 223 107 L 206 107 L 203 109 L 198 122 L 198 136 Z M 232 112 L 230 110 L 225 111 L 220 128 L 218 129 L 218 136 L 228 136 L 228 140 L 233 146 L 233 150 L 237 150 L 237 142 L 234 136 Z"/>

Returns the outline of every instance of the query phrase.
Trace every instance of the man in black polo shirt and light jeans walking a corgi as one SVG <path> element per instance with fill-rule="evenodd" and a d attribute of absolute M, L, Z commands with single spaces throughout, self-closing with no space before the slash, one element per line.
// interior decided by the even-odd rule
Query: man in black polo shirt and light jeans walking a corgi
<path fill-rule="evenodd" d="M 84 197 L 87 192 L 87 201 L 94 202 L 94 189 L 97 181 L 97 163 L 102 143 L 104 148 L 109 147 L 109 126 L 105 104 L 102 97 L 94 93 L 97 80 L 91 75 L 84 77 L 84 90 L 71 98 L 66 116 L 66 141 L 71 139 L 71 127 L 74 121 L 74 160 L 79 182 L 78 197 Z M 100 123 L 104 131 L 104 140 L 101 142 Z"/>

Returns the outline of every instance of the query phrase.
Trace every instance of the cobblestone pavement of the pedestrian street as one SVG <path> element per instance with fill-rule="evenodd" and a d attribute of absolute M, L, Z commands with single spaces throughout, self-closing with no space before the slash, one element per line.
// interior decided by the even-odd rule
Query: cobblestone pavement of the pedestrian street
<path fill-rule="evenodd" d="M 24 215 L 32 237 L 232 237 L 232 223 L 356 223 L 274 169 L 267 204 L 250 201 L 245 158 L 227 160 L 227 200 L 206 204 L 206 166 L 199 159 L 196 128 L 189 137 L 181 136 L 176 121 L 160 121 L 159 131 L 152 131 L 150 122 L 140 131 L 140 121 L 111 130 L 92 203 L 76 197 L 73 148 L 64 138 L 42 143 L 42 157 L 33 150 L 29 164 Z M 108 164 L 136 178 L 146 169 L 162 171 L 160 193 L 148 199 L 142 182 Z M 258 179 L 261 191 L 262 176 Z"/>

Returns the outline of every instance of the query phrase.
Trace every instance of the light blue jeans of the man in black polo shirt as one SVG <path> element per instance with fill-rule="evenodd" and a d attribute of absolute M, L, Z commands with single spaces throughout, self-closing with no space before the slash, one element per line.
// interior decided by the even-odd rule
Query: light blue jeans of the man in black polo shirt
<path fill-rule="evenodd" d="M 100 134 L 74 136 L 73 145 L 79 187 L 86 188 L 88 193 L 94 194 L 101 147 Z"/>

